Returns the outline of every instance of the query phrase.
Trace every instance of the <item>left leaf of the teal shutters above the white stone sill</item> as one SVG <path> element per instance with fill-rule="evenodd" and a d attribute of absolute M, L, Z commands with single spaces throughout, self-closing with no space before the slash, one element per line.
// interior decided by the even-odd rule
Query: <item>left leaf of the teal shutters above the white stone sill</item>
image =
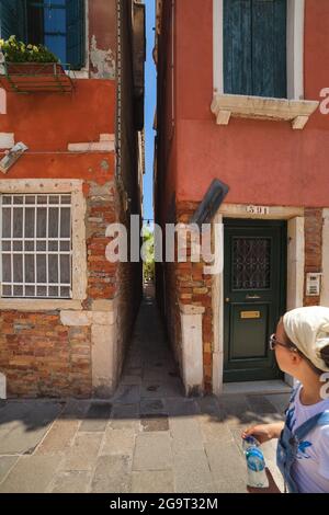
<path fill-rule="evenodd" d="M 251 0 L 224 1 L 224 91 L 252 94 Z"/>

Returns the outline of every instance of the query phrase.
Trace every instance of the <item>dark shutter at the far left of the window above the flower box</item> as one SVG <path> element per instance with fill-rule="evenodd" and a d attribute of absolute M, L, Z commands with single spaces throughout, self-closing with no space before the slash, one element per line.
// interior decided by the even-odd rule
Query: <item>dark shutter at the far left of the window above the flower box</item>
<path fill-rule="evenodd" d="M 23 0 L 0 0 L 0 38 L 15 35 L 24 38 L 25 3 Z"/>

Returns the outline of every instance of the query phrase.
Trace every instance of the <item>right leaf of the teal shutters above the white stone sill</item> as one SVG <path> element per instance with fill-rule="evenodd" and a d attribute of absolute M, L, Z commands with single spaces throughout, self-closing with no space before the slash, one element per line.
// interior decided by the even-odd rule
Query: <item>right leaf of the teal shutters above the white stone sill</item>
<path fill-rule="evenodd" d="M 286 98 L 286 0 L 252 0 L 252 92 Z"/>

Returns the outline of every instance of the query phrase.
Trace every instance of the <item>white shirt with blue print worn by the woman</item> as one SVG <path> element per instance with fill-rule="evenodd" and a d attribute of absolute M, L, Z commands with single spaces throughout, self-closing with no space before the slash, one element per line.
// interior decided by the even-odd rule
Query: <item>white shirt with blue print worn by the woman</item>
<path fill-rule="evenodd" d="M 295 432 L 304 422 L 329 410 L 329 399 L 313 405 L 300 402 L 303 385 L 296 386 L 296 394 L 286 412 L 286 424 Z M 292 477 L 300 493 L 329 493 L 329 425 L 315 427 L 299 444 Z"/>

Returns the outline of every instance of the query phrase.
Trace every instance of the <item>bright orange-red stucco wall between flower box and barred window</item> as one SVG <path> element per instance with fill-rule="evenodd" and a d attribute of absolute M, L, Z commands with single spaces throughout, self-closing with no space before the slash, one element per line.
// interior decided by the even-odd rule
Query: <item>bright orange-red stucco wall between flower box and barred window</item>
<path fill-rule="evenodd" d="M 105 181 L 114 169 L 109 152 L 68 153 L 68 144 L 99 141 L 115 133 L 115 88 L 111 80 L 76 80 L 71 94 L 8 93 L 0 133 L 14 133 L 29 150 L 4 179 L 48 178 Z"/>

